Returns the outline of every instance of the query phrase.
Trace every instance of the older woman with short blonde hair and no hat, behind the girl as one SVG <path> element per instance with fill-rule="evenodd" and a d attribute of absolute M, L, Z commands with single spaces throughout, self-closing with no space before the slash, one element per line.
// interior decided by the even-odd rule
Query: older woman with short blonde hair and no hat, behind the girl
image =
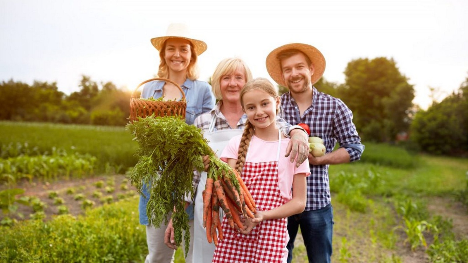
<path fill-rule="evenodd" d="M 194 125 L 203 131 L 213 151 L 220 154 L 228 141 L 241 135 L 247 121 L 247 115 L 242 110 L 240 94 L 246 82 L 252 79 L 249 66 L 241 58 L 225 58 L 219 62 L 212 75 L 212 92 L 218 99 L 216 107 L 195 119 Z M 296 156 L 300 164 L 307 159 L 308 143 L 306 132 L 297 126 L 291 126 L 284 120 L 278 120 L 278 126 L 285 134 L 292 136 L 286 156 Z M 304 150 L 304 147 L 306 148 Z M 290 154 L 289 154 L 290 153 Z M 205 158 L 206 160 L 206 158 Z M 203 198 L 202 190 L 205 189 L 206 172 L 195 172 L 194 185 L 197 186 L 195 196 L 194 242 L 193 262 L 211 263 L 214 254 L 214 243 L 208 243 L 206 229 L 203 227 Z M 176 249 L 173 244 L 173 229 L 168 226 L 165 243 L 169 248 Z M 171 236 L 172 235 L 172 236 Z M 172 237 L 172 241 L 171 241 Z"/>

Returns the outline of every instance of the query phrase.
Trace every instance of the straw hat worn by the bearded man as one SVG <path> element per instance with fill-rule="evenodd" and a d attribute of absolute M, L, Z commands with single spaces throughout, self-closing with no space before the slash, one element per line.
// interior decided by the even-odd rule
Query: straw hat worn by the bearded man
<path fill-rule="evenodd" d="M 285 50 L 297 49 L 304 52 L 307 57 L 309 57 L 312 65 L 314 65 L 314 74 L 311 77 L 312 85 L 322 78 L 323 72 L 325 71 L 325 58 L 322 53 L 315 47 L 302 44 L 302 43 L 292 43 L 282 45 L 268 54 L 266 57 L 266 69 L 270 74 L 271 78 L 276 81 L 281 86 L 287 87 L 285 80 L 283 78 L 283 72 L 281 70 L 281 62 L 277 58 L 278 54 Z"/>

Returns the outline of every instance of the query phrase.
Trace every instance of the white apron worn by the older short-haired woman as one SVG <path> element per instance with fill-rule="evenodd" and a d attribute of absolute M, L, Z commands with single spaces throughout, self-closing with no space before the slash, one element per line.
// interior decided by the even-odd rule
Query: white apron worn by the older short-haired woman
<path fill-rule="evenodd" d="M 221 130 L 214 131 L 216 124 L 216 116 L 213 116 L 210 127 L 207 132 L 204 132 L 203 137 L 208 139 L 208 145 L 219 156 L 229 140 L 236 135 L 242 134 L 242 130 Z M 193 263 L 211 263 L 214 254 L 214 242 L 211 244 L 206 240 L 206 229 L 203 227 L 203 197 L 202 192 L 205 190 L 206 172 L 201 173 L 200 182 L 197 186 L 197 194 L 195 195 L 195 218 L 194 218 L 194 237 L 193 237 Z M 222 209 L 219 209 L 221 214 Z M 222 217 L 221 217 L 222 218 Z"/>

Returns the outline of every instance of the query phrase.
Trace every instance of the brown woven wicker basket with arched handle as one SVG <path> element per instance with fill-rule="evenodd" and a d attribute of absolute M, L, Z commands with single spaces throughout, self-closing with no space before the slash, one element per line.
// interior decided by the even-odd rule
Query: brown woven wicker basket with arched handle
<path fill-rule="evenodd" d="M 149 101 L 145 99 L 140 99 L 136 96 L 136 91 L 138 88 L 145 84 L 146 82 L 150 82 L 153 80 L 163 80 L 166 82 L 170 82 L 174 84 L 177 88 L 179 88 L 180 92 L 182 93 L 182 100 L 180 101 Z M 163 78 L 153 78 L 149 80 L 145 80 L 141 82 L 137 88 L 132 92 L 132 97 L 130 98 L 130 117 L 129 120 L 133 122 L 138 117 L 147 117 L 151 116 L 154 113 L 154 117 L 164 117 L 164 116 L 182 116 L 185 118 L 185 110 L 187 109 L 187 101 L 185 99 L 185 93 L 183 92 L 182 88 L 180 88 L 179 84 L 172 80 L 163 79 Z"/>

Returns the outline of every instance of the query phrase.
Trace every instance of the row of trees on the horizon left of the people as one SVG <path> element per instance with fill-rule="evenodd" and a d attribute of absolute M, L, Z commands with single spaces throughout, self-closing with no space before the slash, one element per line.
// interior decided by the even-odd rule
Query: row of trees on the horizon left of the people
<path fill-rule="evenodd" d="M 63 124 L 125 125 L 130 115 L 131 93 L 112 82 L 98 84 L 89 76 L 80 80 L 80 91 L 66 95 L 56 82 L 2 81 L 0 120 Z"/>

